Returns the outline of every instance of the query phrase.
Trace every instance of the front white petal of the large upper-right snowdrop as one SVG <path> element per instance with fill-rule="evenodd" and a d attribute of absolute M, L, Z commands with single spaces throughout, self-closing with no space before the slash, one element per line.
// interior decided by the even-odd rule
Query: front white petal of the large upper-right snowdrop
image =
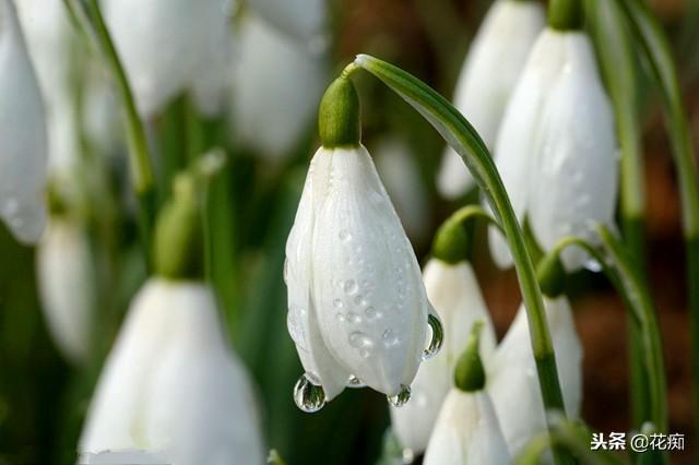
<path fill-rule="evenodd" d="M 614 115 L 592 45 L 583 33 L 562 36 L 565 68 L 549 90 L 531 180 L 530 223 L 546 250 L 570 235 L 592 239 L 592 223 L 612 224 L 618 183 Z M 568 271 L 585 258 L 579 249 L 562 254 Z"/>

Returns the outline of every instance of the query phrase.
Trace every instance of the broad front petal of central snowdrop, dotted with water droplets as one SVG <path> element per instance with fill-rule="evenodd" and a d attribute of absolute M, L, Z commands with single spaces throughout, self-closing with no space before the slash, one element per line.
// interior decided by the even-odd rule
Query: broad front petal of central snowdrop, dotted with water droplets
<path fill-rule="evenodd" d="M 321 334 L 353 374 L 394 395 L 413 381 L 426 345 L 419 266 L 366 150 L 319 155 L 330 160 L 313 174 L 311 293 Z"/>

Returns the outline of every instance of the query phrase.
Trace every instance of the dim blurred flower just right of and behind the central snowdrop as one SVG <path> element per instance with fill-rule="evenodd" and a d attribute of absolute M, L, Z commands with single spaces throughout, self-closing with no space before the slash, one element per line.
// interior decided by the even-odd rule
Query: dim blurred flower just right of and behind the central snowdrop
<path fill-rule="evenodd" d="M 424 243 L 429 234 L 429 202 L 411 147 L 400 139 L 387 139 L 372 152 L 376 154 L 376 167 L 393 199 L 407 237 L 413 242 Z"/>

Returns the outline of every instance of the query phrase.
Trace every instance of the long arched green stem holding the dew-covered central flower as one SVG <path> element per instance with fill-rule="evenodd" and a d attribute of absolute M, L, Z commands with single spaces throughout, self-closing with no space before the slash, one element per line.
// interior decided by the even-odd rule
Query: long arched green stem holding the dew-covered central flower
<path fill-rule="evenodd" d="M 490 203 L 510 246 L 522 299 L 526 307 L 544 407 L 546 410 L 565 413 L 554 345 L 534 265 L 500 175 L 485 143 L 463 115 L 445 97 L 412 74 L 367 55 L 357 56 L 346 72 L 352 72 L 355 67 L 367 70 L 411 104 L 435 127 L 471 170 Z M 567 461 L 568 456 L 561 451 L 555 452 L 559 463 Z"/>

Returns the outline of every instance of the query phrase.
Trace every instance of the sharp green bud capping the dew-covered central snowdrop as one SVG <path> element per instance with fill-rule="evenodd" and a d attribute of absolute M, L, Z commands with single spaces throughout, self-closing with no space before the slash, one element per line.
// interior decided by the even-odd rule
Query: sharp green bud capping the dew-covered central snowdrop
<path fill-rule="evenodd" d="M 337 78 L 325 91 L 318 109 L 318 130 L 325 148 L 359 145 L 359 97 L 348 78 Z"/>

